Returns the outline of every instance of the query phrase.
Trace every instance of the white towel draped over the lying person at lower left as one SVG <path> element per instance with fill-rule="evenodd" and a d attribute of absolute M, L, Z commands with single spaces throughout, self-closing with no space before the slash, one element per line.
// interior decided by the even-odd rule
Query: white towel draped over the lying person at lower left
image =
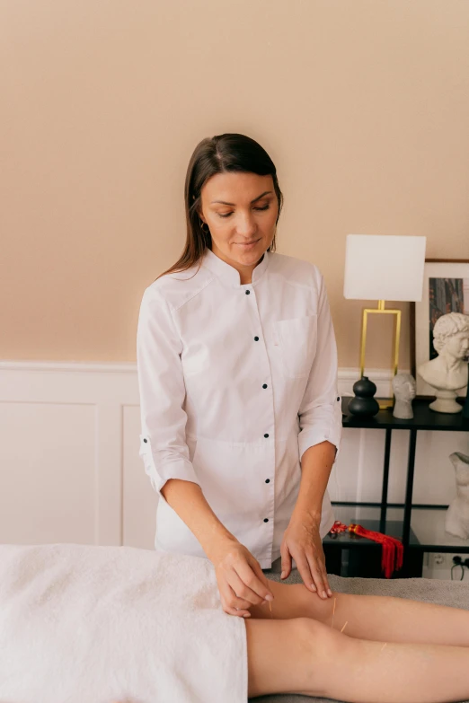
<path fill-rule="evenodd" d="M 243 618 L 205 558 L 0 545 L 1 703 L 246 703 Z"/>

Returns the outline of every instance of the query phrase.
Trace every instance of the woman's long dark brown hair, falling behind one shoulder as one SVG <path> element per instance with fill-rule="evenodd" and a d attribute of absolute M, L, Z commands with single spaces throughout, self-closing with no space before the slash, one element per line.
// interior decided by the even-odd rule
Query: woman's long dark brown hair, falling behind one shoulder
<path fill-rule="evenodd" d="M 198 214 L 201 204 L 200 191 L 211 176 L 225 171 L 257 173 L 259 176 L 270 175 L 279 204 L 276 224 L 279 221 L 283 195 L 279 189 L 275 165 L 265 149 L 251 137 L 238 134 L 224 134 L 202 139 L 190 157 L 186 173 L 184 200 L 187 236 L 184 250 L 181 258 L 155 280 L 165 274 L 187 270 L 202 258 L 206 249 L 212 248 L 210 233 L 204 232 L 200 227 Z M 275 251 L 275 234 L 268 251 Z"/>

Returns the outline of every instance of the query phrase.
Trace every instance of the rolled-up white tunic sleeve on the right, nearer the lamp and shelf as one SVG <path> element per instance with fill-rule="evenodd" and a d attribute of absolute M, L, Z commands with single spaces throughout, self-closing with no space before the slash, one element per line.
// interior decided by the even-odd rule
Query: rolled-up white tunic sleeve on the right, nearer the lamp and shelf
<path fill-rule="evenodd" d="M 337 345 L 323 275 L 315 268 L 319 290 L 316 351 L 305 394 L 298 410 L 299 457 L 314 444 L 327 440 L 336 447 L 334 461 L 341 451 L 342 412 L 337 390 Z"/>

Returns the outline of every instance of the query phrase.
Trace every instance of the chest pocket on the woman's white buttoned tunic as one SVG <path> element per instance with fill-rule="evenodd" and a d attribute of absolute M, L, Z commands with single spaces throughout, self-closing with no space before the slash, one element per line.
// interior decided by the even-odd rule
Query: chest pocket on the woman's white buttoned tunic
<path fill-rule="evenodd" d="M 283 374 L 303 378 L 316 354 L 317 315 L 274 322 L 274 344 L 279 347 Z"/>

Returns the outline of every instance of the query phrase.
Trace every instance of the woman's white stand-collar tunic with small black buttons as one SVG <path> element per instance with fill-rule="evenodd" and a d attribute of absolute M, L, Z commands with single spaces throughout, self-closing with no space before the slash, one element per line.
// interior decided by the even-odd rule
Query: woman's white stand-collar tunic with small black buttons
<path fill-rule="evenodd" d="M 249 284 L 211 250 L 199 264 L 148 286 L 138 318 L 139 455 L 160 496 L 155 549 L 206 556 L 160 493 L 168 479 L 185 479 L 269 568 L 296 504 L 302 454 L 324 440 L 336 460 L 340 450 L 323 276 L 269 251 Z M 326 490 L 321 538 L 333 522 Z"/>

